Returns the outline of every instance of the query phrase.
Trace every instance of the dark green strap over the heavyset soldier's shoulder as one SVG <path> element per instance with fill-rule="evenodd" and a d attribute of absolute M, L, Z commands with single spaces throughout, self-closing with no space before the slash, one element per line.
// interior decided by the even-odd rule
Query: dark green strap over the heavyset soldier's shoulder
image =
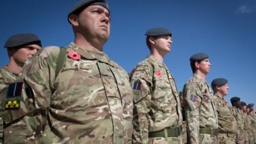
<path fill-rule="evenodd" d="M 60 53 L 58 56 L 58 60 L 56 62 L 56 70 L 55 70 L 55 79 L 60 73 L 61 68 L 63 67 L 64 63 L 66 62 L 67 59 L 67 48 L 61 47 L 60 48 Z"/>

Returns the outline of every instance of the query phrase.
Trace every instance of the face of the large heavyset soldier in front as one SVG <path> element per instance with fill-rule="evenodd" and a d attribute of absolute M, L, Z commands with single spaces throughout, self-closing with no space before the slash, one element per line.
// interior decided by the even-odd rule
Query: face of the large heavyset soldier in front
<path fill-rule="evenodd" d="M 86 7 L 77 18 L 79 33 L 91 42 L 100 40 L 106 42 L 110 33 L 110 15 L 106 8 L 100 5 Z"/>

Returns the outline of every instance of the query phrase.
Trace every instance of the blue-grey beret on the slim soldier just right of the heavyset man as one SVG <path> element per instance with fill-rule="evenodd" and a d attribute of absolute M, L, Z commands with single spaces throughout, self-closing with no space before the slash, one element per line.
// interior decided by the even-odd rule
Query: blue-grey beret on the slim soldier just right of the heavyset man
<path fill-rule="evenodd" d="M 172 36 L 172 31 L 169 31 L 166 28 L 152 28 L 148 29 L 145 33 L 147 36 L 161 36 L 161 35 L 170 35 Z"/>

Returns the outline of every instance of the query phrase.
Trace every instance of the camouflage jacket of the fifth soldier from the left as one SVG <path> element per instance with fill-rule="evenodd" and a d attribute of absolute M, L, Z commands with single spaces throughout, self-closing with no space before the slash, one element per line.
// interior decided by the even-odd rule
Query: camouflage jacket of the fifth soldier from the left
<path fill-rule="evenodd" d="M 219 132 L 236 133 L 236 118 L 228 102 L 216 94 L 214 94 L 214 102 L 218 112 Z"/>

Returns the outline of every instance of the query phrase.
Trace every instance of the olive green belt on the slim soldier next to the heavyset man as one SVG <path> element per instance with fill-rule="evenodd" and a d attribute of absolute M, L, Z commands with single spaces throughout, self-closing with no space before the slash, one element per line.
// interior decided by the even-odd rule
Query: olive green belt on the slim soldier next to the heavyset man
<path fill-rule="evenodd" d="M 166 131 L 166 132 L 165 132 Z M 148 138 L 156 138 L 156 137 L 176 137 L 182 134 L 181 126 L 179 127 L 168 127 L 162 129 L 161 131 L 148 132 Z"/>

